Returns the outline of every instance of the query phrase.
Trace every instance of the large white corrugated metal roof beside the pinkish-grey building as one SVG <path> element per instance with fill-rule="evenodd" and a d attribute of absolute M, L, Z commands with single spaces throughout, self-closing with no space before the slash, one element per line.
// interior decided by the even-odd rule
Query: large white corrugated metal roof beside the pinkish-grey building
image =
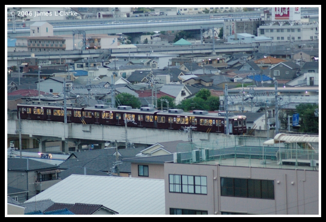
<path fill-rule="evenodd" d="M 55 203 L 102 204 L 125 215 L 165 214 L 164 180 L 158 179 L 71 175 L 36 195 L 36 200 L 49 198 Z"/>

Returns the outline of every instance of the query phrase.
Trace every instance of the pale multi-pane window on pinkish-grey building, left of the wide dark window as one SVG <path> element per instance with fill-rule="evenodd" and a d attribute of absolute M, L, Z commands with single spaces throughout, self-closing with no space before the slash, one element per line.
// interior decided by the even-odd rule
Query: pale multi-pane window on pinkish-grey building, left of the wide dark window
<path fill-rule="evenodd" d="M 175 193 L 207 194 L 207 179 L 204 176 L 169 174 L 169 190 Z"/>

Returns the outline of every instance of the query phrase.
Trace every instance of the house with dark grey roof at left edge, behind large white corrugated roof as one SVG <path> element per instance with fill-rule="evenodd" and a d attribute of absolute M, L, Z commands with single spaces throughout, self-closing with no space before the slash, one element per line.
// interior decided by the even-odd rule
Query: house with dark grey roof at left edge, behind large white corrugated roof
<path fill-rule="evenodd" d="M 21 190 L 28 190 L 26 199 L 61 181 L 57 166 L 27 158 L 8 158 L 7 183 Z"/>

